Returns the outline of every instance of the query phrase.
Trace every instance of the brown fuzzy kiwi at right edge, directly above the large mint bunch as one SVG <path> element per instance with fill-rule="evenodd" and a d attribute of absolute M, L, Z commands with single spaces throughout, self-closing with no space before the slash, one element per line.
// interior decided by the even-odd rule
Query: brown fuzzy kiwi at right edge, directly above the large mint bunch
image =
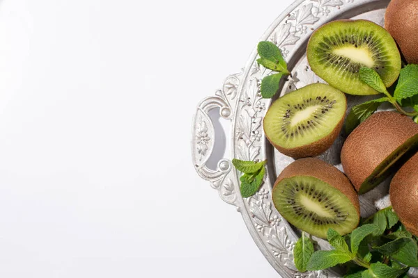
<path fill-rule="evenodd" d="M 418 236 L 418 154 L 395 174 L 389 196 L 394 211 L 408 231 Z"/>

